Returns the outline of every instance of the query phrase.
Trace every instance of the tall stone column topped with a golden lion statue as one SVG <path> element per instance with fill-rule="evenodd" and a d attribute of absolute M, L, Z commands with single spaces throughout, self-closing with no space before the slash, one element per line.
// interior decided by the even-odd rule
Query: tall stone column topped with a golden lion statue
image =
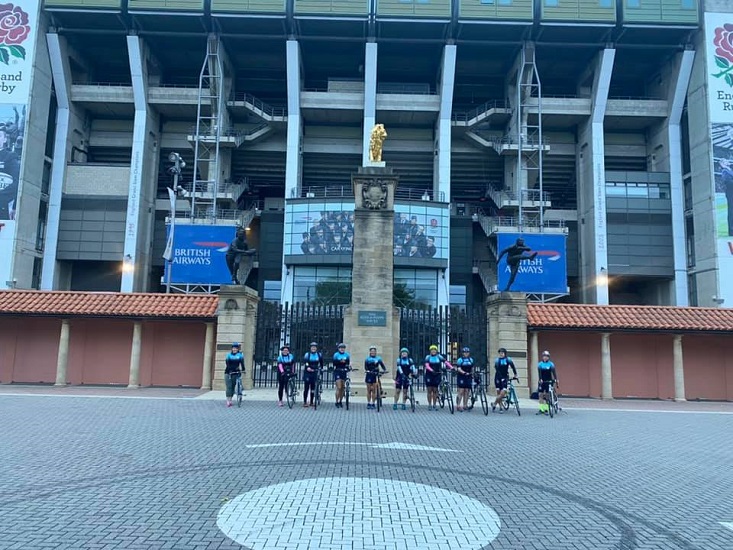
<path fill-rule="evenodd" d="M 344 342 L 352 365 L 363 370 L 369 346 L 391 371 L 397 361 L 400 314 L 392 305 L 394 281 L 394 194 L 398 183 L 392 169 L 382 161 L 387 132 L 382 124 L 372 130 L 370 161 L 351 176 L 354 190 L 354 248 L 351 305 L 344 312 Z M 387 389 L 387 379 L 382 387 Z M 363 372 L 352 377 L 352 391 L 363 392 Z"/>

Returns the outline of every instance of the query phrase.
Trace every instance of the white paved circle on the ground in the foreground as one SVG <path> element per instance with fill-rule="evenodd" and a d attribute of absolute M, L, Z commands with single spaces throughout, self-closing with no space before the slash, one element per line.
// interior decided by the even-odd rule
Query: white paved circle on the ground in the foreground
<path fill-rule="evenodd" d="M 216 524 L 251 550 L 460 548 L 499 534 L 496 512 L 430 485 L 356 477 L 301 479 L 241 494 Z"/>

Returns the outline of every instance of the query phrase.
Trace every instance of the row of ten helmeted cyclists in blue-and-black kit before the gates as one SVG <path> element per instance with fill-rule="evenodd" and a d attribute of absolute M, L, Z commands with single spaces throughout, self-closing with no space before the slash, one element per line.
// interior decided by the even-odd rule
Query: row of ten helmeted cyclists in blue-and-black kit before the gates
<path fill-rule="evenodd" d="M 494 361 L 494 387 L 496 388 L 496 398 L 491 403 L 492 411 L 503 412 L 501 403 L 506 396 L 508 384 L 510 380 L 519 381 L 517 377 L 517 368 L 514 361 L 507 355 L 505 348 L 499 348 L 498 357 Z M 311 342 L 308 352 L 302 358 L 303 363 L 303 407 L 308 408 L 314 405 L 316 399 L 317 382 L 319 373 L 324 369 L 325 362 L 323 354 L 318 349 L 316 342 Z M 349 371 L 352 368 L 351 355 L 346 351 L 346 344 L 343 342 L 337 346 L 336 353 L 331 359 L 333 368 L 333 377 L 335 385 L 335 406 L 343 408 L 343 400 L 345 394 L 345 382 Z M 471 349 L 464 347 L 461 349 L 461 356 L 452 364 L 445 355 L 438 352 L 437 345 L 431 345 L 428 354 L 421 362 L 421 368 L 415 363 L 410 356 L 410 350 L 402 348 L 397 358 L 396 369 L 394 372 L 394 404 L 392 408 L 398 410 L 400 408 L 400 396 L 402 397 L 401 409 L 407 409 L 407 399 L 412 379 L 419 375 L 420 370 L 424 373 L 425 387 L 427 389 L 428 410 L 438 410 L 438 388 L 440 387 L 442 377 L 447 375 L 449 371 L 454 371 L 456 376 L 456 410 L 458 412 L 470 410 L 469 399 L 471 388 L 474 383 L 480 380 L 480 372 L 477 368 L 474 358 L 471 356 Z M 509 376 L 509 369 L 512 371 L 512 377 Z M 226 382 L 226 399 L 227 407 L 232 406 L 232 397 L 236 387 L 237 377 L 241 376 L 244 371 L 244 357 L 241 352 L 241 346 L 238 342 L 232 344 L 232 351 L 226 356 L 226 369 L 224 377 Z M 384 364 L 381 356 L 377 354 L 377 347 L 370 346 L 369 354 L 364 360 L 364 382 L 367 390 L 367 409 L 376 408 L 377 392 L 381 386 L 379 377 L 387 372 L 387 366 Z M 539 384 L 537 394 L 539 399 L 539 411 L 537 414 L 547 414 L 547 394 L 551 384 L 558 386 L 557 371 L 555 364 L 550 360 L 550 352 L 542 353 L 542 360 L 537 365 Z M 280 354 L 277 357 L 277 404 L 283 406 L 283 394 L 286 391 L 288 381 L 291 377 L 296 376 L 296 360 L 290 351 L 289 345 L 280 348 Z"/>

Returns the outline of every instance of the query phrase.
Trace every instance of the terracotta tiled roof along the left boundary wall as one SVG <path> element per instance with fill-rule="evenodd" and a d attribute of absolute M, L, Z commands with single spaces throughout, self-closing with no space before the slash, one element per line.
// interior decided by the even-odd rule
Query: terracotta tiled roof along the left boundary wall
<path fill-rule="evenodd" d="M 217 296 L 120 292 L 0 291 L 0 315 L 210 319 Z"/>

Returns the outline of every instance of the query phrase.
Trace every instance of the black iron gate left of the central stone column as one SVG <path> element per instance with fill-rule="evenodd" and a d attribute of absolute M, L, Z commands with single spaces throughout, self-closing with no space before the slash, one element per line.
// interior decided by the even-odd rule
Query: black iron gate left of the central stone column
<path fill-rule="evenodd" d="M 343 306 L 308 306 L 262 301 L 257 308 L 252 382 L 256 388 L 277 386 L 277 356 L 288 344 L 295 356 L 298 383 L 302 379 L 302 358 L 317 342 L 329 365 L 336 346 L 344 337 Z M 333 374 L 324 371 L 324 385 L 333 387 Z"/>

